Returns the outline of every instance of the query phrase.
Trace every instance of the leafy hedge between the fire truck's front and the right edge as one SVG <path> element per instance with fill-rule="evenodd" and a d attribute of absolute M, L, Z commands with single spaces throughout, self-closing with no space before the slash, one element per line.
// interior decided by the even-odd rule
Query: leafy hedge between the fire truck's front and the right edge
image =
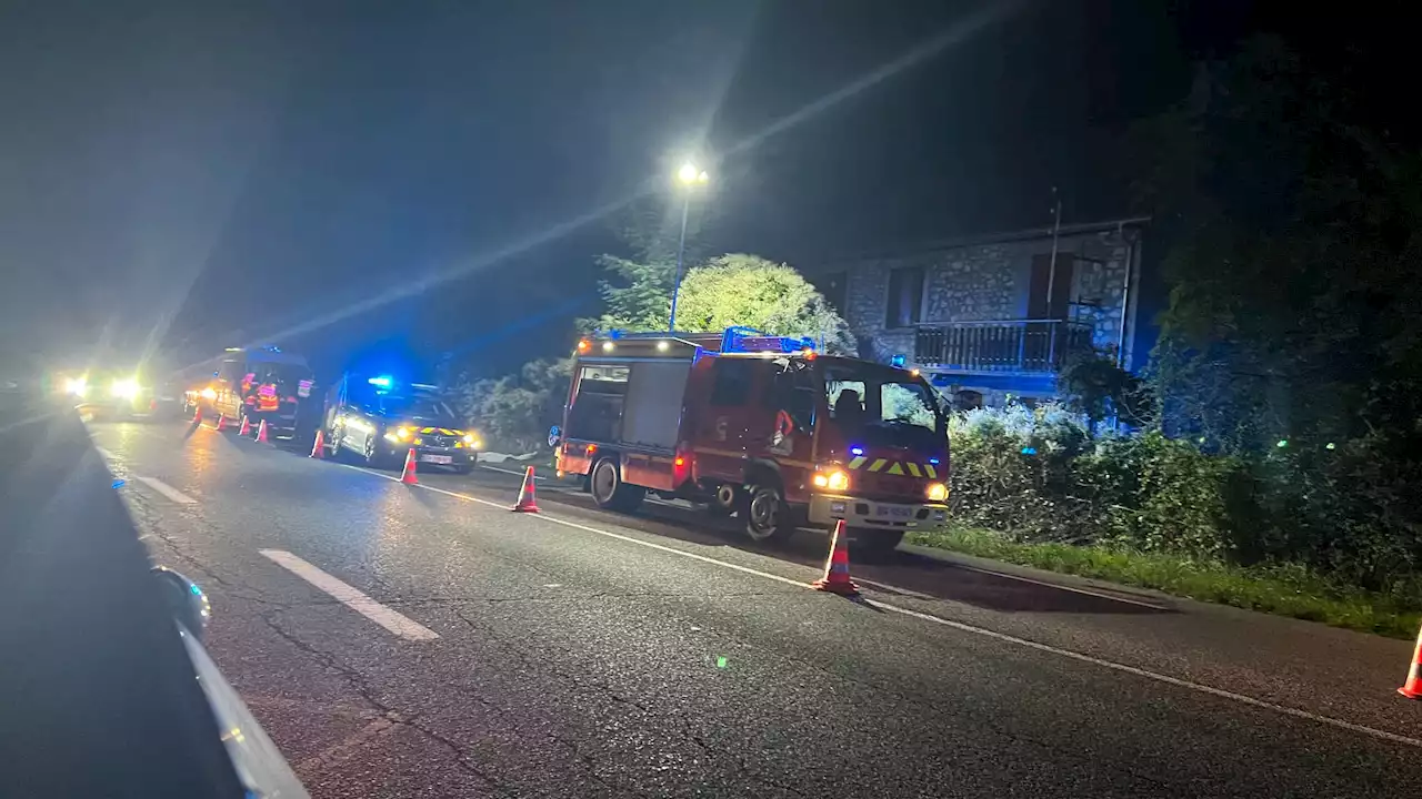
<path fill-rule="evenodd" d="M 1422 597 L 1422 463 L 1382 436 L 1241 458 L 1158 431 L 1094 439 L 1058 405 L 956 414 L 948 436 L 960 525 Z"/>

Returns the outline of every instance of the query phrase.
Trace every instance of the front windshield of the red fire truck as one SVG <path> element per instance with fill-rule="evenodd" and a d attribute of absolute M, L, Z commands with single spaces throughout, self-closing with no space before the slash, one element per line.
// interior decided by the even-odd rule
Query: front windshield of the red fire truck
<path fill-rule="evenodd" d="M 947 432 L 933 390 L 897 370 L 829 367 L 825 394 L 829 418 L 870 442 L 930 446 Z"/>

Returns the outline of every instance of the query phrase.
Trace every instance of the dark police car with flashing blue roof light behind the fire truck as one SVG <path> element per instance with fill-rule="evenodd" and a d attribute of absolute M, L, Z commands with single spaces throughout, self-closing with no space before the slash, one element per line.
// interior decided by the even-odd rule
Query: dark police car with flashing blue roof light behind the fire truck
<path fill-rule="evenodd" d="M 331 455 L 350 454 L 370 466 L 400 466 L 414 449 L 421 465 L 464 475 L 483 448 L 434 385 L 400 384 L 384 375 L 341 378 L 327 397 L 323 429 Z"/>

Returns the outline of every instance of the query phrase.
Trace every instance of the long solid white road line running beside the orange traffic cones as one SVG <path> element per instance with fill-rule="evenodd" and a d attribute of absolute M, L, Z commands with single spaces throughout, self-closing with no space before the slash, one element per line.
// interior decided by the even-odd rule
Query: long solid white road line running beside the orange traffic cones
<path fill-rule="evenodd" d="M 400 478 L 392 478 L 390 475 L 381 475 L 380 472 L 371 472 L 368 469 L 361 469 L 360 466 L 348 466 L 346 463 L 343 463 L 343 466 L 347 466 L 348 469 L 356 469 L 357 472 L 365 472 L 367 475 L 375 475 L 377 478 L 384 478 L 387 481 L 400 482 Z M 452 492 L 452 490 L 445 490 L 445 489 L 434 488 L 434 486 L 424 485 L 424 483 L 419 483 L 415 488 L 424 488 L 424 489 L 432 490 L 435 493 L 444 493 L 447 496 L 454 496 L 456 499 L 464 499 L 464 500 L 468 500 L 468 502 L 476 502 L 479 505 L 488 505 L 491 508 L 508 509 L 506 505 L 501 505 L 498 502 L 489 502 L 488 499 L 479 499 L 476 496 L 469 496 L 466 493 L 456 493 L 456 492 Z M 587 525 L 580 525 L 577 522 L 569 522 L 566 519 L 559 519 L 556 516 L 547 516 L 545 513 L 539 513 L 538 518 L 543 519 L 545 522 L 552 522 L 555 525 L 562 525 L 565 527 L 573 527 L 576 530 L 584 530 L 584 532 L 589 532 L 589 533 L 596 533 L 599 536 L 606 536 L 606 537 L 610 537 L 610 539 L 617 539 L 617 540 L 623 540 L 623 542 L 627 542 L 627 543 L 634 543 L 637 546 L 644 546 L 647 549 L 656 549 L 656 550 L 665 552 L 665 553 L 670 553 L 670 554 L 678 554 L 681 557 L 690 557 L 691 560 L 700 560 L 702 563 L 711 563 L 711 564 L 721 566 L 724 569 L 732 569 L 735 572 L 741 572 L 741 573 L 745 573 L 745 574 L 755 574 L 757 577 L 765 577 L 768 580 L 775 580 L 776 583 L 786 583 L 786 584 L 791 584 L 791 586 L 798 586 L 801 589 L 809 589 L 811 587 L 809 583 L 802 583 L 799 580 L 791 580 L 789 577 L 781 577 L 779 574 L 771 574 L 769 572 L 761 572 L 758 569 L 751 569 L 748 566 L 739 566 L 737 563 L 727 563 L 725 560 L 717 560 L 714 557 L 707 557 L 704 554 L 697 554 L 694 552 L 685 552 L 685 550 L 674 549 L 674 547 L 670 547 L 670 546 L 663 546 L 660 543 L 644 542 L 644 540 L 640 540 L 640 539 L 634 539 L 631 536 L 624 536 L 624 535 L 620 535 L 620 533 L 613 533 L 610 530 L 599 530 L 597 527 L 589 527 Z M 867 583 L 867 580 L 865 580 L 865 581 Z M 943 618 L 940 616 L 933 616 L 931 613 L 920 613 L 917 610 L 909 610 L 906 607 L 899 607 L 896 604 L 889 604 L 886 601 L 870 600 L 870 599 L 863 599 L 862 601 L 866 603 L 866 604 L 872 604 L 872 606 L 875 606 L 877 608 L 882 608 L 882 610 L 887 610 L 887 611 L 892 611 L 892 613 L 899 613 L 902 616 L 909 616 L 909 617 L 919 618 L 919 620 L 923 620 L 923 621 L 930 621 L 933 624 L 941 624 L 941 626 L 950 627 L 953 630 L 958 630 L 958 631 L 963 631 L 963 633 L 971 633 L 974 636 L 983 636 L 983 637 L 993 638 L 995 641 L 1001 641 L 1001 643 L 1005 643 L 1005 644 L 1014 644 L 1014 645 L 1018 645 L 1018 647 L 1027 647 L 1030 650 L 1037 650 L 1039 653 L 1048 653 L 1048 654 L 1054 654 L 1054 655 L 1058 655 L 1058 657 L 1071 658 L 1071 660 L 1075 660 L 1075 661 L 1079 661 L 1079 663 L 1089 663 L 1092 665 L 1099 665 L 1102 668 L 1109 668 L 1109 670 L 1113 670 L 1113 671 L 1121 671 L 1121 672 L 1125 672 L 1125 674 L 1132 674 L 1132 675 L 1136 675 L 1136 677 L 1143 677 L 1146 680 L 1155 680 L 1156 682 L 1165 682 L 1167 685 L 1175 685 L 1176 688 L 1185 688 L 1187 691 L 1194 691 L 1194 692 L 1199 692 L 1199 694 L 1207 694 L 1210 697 L 1217 697 L 1217 698 L 1221 698 L 1221 699 L 1230 699 L 1230 701 L 1240 702 L 1243 705 L 1249 705 L 1249 707 L 1253 707 L 1253 708 L 1267 709 L 1267 711 L 1273 711 L 1273 712 L 1283 714 L 1283 715 L 1287 715 L 1287 717 L 1301 718 L 1301 719 L 1313 721 L 1313 722 L 1317 722 L 1317 724 L 1324 724 L 1324 725 L 1328 725 L 1328 726 L 1335 726 L 1338 729 L 1347 729 L 1349 732 L 1359 732 L 1362 735 L 1371 735 L 1374 738 L 1381 738 L 1382 741 L 1391 741 L 1394 744 L 1402 744 L 1402 745 L 1406 745 L 1406 746 L 1413 746 L 1413 748 L 1422 749 L 1422 739 L 1408 738 L 1406 735 L 1398 735 L 1396 732 L 1388 732 L 1386 729 L 1376 729 L 1374 726 L 1365 726 L 1365 725 L 1361 725 L 1361 724 L 1352 724 L 1351 721 L 1342 721 L 1342 719 L 1338 719 L 1338 718 L 1331 718 L 1331 717 L 1325 717 L 1325 715 L 1311 714 L 1308 711 L 1301 711 L 1301 709 L 1297 709 L 1297 708 L 1290 708 L 1290 707 L 1284 707 L 1284 705 L 1276 705 L 1274 702 L 1266 702 L 1263 699 L 1256 699 L 1254 697 L 1246 697 L 1244 694 L 1236 694 L 1234 691 L 1226 691 L 1223 688 L 1214 688 L 1212 685 L 1202 685 L 1200 682 L 1190 682 L 1189 680 L 1180 680 L 1177 677 L 1167 677 L 1165 674 L 1158 674 L 1155 671 L 1149 671 L 1149 670 L 1145 670 L 1145 668 L 1138 668 L 1135 665 L 1126 665 L 1123 663 L 1115 663 L 1115 661 L 1109 661 L 1109 660 L 1105 660 L 1105 658 L 1099 658 L 1099 657 L 1094 657 L 1094 655 L 1076 653 L 1076 651 L 1072 651 L 1072 650 L 1064 650 L 1061 647 L 1054 647 L 1051 644 L 1039 644 L 1037 641 L 1030 641 L 1027 638 L 1018 638 L 1017 636 L 1008 636 L 1007 633 L 998 633 L 997 630 L 988 630 L 987 627 L 977 627 L 977 626 L 973 626 L 973 624 L 966 624 L 963 621 L 953 621 L 953 620 L 948 620 L 948 618 Z"/>

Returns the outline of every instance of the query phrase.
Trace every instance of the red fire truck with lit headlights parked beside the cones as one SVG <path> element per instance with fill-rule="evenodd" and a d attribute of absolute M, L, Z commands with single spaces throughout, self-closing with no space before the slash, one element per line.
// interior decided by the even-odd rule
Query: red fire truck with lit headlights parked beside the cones
<path fill-rule="evenodd" d="M 549 439 L 602 508 L 634 510 L 650 490 L 734 512 L 757 542 L 843 519 L 887 550 L 947 518 L 947 418 L 929 382 L 802 338 L 584 338 Z"/>

